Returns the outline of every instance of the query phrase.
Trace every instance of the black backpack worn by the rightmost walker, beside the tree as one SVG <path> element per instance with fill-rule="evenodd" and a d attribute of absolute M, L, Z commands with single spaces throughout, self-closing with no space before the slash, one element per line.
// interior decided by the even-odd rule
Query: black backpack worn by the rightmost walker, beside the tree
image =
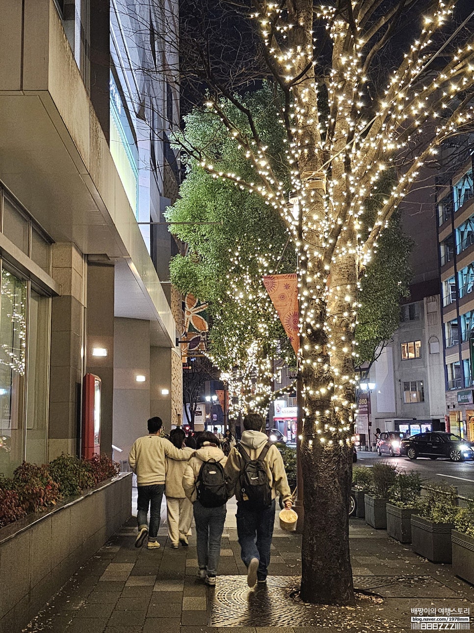
<path fill-rule="evenodd" d="M 243 501 L 255 510 L 263 510 L 272 505 L 272 489 L 264 465 L 265 455 L 268 453 L 269 448 L 270 444 L 267 442 L 257 459 L 251 460 L 242 444 L 237 446 L 237 450 L 244 461 L 243 468 L 240 471 L 240 489 Z"/>

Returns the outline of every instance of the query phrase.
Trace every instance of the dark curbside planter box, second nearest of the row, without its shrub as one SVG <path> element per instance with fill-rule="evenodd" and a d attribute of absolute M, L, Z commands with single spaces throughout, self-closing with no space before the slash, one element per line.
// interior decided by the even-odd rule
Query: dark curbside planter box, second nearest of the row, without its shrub
<path fill-rule="evenodd" d="M 426 518 L 411 516 L 411 549 L 432 563 L 451 563 L 452 523 L 433 523 Z"/>

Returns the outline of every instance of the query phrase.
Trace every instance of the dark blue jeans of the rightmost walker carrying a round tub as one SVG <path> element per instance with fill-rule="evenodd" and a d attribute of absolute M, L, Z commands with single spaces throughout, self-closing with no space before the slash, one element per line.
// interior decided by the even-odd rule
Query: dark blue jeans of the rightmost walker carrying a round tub
<path fill-rule="evenodd" d="M 245 501 L 237 502 L 237 536 L 240 558 L 248 567 L 252 558 L 258 558 L 257 577 L 264 580 L 270 564 L 273 523 L 275 521 L 275 499 L 269 508 L 251 510 Z"/>

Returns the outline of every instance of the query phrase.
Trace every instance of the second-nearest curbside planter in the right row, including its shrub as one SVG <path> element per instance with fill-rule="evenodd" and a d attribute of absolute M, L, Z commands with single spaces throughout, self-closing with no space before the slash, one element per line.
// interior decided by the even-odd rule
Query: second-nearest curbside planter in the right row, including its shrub
<path fill-rule="evenodd" d="M 447 484 L 427 488 L 411 515 L 411 548 L 432 563 L 451 563 L 451 530 L 459 513 L 456 489 Z"/>

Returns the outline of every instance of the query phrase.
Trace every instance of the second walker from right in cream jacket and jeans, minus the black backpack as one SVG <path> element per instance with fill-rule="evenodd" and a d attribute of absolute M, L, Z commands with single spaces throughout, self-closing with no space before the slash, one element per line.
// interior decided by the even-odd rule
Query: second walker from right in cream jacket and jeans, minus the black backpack
<path fill-rule="evenodd" d="M 226 520 L 226 489 L 224 501 L 216 507 L 206 507 L 198 499 L 198 477 L 202 465 L 207 461 L 216 461 L 224 467 L 226 456 L 219 448 L 220 442 L 209 431 L 204 431 L 197 439 L 197 450 L 186 466 L 183 475 L 183 488 L 186 497 L 193 503 L 193 515 L 196 524 L 198 578 L 206 584 L 216 584 L 217 567 L 221 556 L 221 539 Z M 224 483 L 224 479 L 222 478 Z"/>

